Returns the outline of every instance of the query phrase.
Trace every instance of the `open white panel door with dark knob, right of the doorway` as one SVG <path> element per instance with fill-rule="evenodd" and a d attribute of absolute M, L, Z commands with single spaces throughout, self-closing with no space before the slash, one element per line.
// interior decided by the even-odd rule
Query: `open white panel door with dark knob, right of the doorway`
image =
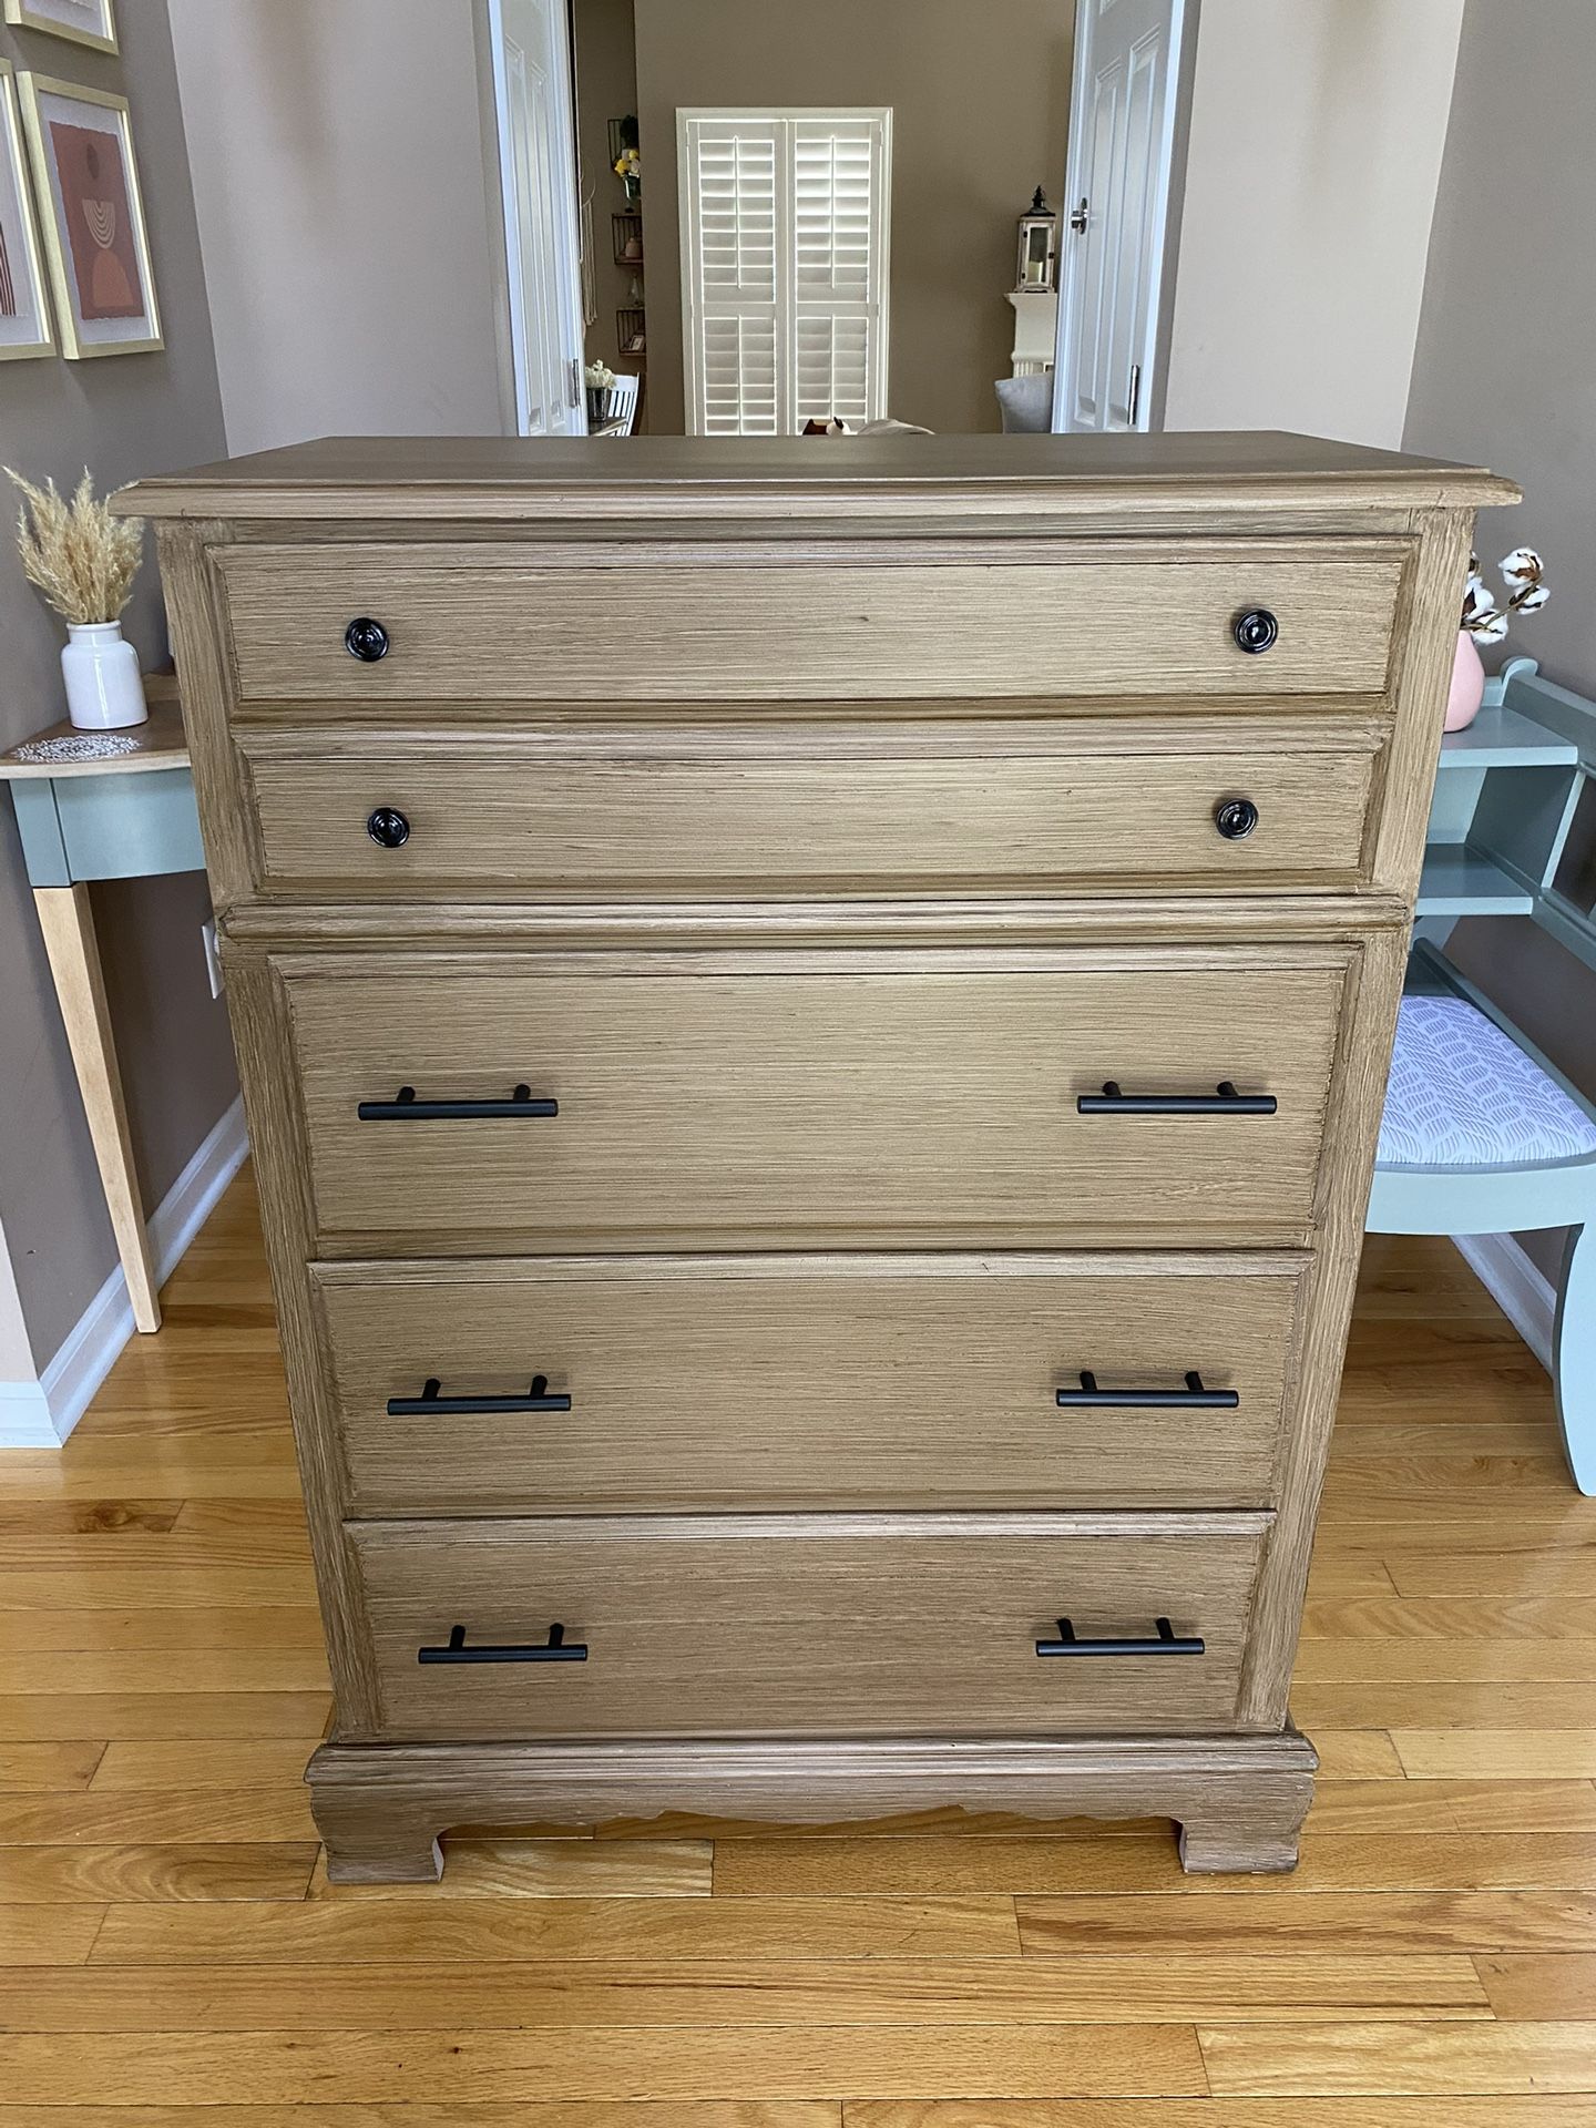
<path fill-rule="evenodd" d="M 1077 0 L 1055 430 L 1147 428 L 1185 0 Z"/>

